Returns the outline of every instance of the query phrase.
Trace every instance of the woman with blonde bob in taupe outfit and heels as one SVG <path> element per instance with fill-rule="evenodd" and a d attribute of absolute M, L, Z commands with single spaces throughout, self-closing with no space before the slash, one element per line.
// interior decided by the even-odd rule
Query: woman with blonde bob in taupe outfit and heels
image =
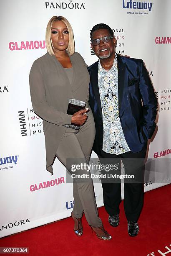
<path fill-rule="evenodd" d="M 46 145 L 46 169 L 53 174 L 55 155 L 67 166 L 67 159 L 84 159 L 88 163 L 94 137 L 93 114 L 88 104 L 89 73 L 87 66 L 75 52 L 73 30 L 67 19 L 52 17 L 46 28 L 47 54 L 36 61 L 30 70 L 30 94 L 35 113 L 43 118 Z M 85 109 L 67 114 L 68 102 L 76 99 L 86 102 Z M 88 115 L 86 112 L 88 111 Z M 79 130 L 65 125 L 80 125 Z M 83 211 L 97 237 L 110 240 L 103 228 L 91 179 L 82 183 L 73 181 L 74 232 L 83 234 Z"/>

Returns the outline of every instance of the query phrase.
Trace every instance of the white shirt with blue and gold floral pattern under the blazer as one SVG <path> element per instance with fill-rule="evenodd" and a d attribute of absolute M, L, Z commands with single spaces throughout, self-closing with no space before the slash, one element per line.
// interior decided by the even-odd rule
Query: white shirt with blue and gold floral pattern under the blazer
<path fill-rule="evenodd" d="M 118 68 L 117 55 L 109 71 L 98 63 L 98 87 L 103 114 L 103 151 L 109 154 L 123 154 L 130 151 L 126 142 L 118 110 Z"/>

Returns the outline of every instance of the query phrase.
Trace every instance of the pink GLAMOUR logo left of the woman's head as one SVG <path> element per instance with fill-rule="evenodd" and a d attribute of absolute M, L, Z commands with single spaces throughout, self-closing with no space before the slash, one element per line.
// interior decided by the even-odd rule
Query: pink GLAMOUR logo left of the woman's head
<path fill-rule="evenodd" d="M 19 42 L 10 42 L 9 49 L 11 51 L 18 51 L 18 50 L 33 50 L 33 49 L 44 49 L 46 47 L 45 41 L 21 41 Z"/>

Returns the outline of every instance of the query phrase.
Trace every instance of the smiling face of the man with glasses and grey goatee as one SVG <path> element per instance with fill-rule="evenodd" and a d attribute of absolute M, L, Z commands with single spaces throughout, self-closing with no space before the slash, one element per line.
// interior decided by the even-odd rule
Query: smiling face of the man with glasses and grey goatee
<path fill-rule="evenodd" d="M 102 38 L 104 36 L 111 36 L 111 34 L 107 29 L 98 29 L 94 31 L 92 35 L 92 41 L 94 39 Z M 98 58 L 106 59 L 115 53 L 115 46 L 114 46 L 115 43 L 116 43 L 116 39 L 111 38 L 108 43 L 103 43 L 103 41 L 101 40 L 100 44 L 98 45 L 91 44 L 91 47 L 93 48 Z"/>

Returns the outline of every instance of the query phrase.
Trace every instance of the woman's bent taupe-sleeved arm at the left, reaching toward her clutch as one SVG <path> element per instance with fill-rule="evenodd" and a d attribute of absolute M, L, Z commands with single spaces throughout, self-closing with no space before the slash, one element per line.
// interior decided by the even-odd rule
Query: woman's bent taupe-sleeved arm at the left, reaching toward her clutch
<path fill-rule="evenodd" d="M 56 125 L 71 123 L 72 115 L 60 112 L 48 105 L 43 81 L 43 75 L 37 63 L 33 63 L 30 70 L 30 95 L 34 112 L 44 120 Z"/>

